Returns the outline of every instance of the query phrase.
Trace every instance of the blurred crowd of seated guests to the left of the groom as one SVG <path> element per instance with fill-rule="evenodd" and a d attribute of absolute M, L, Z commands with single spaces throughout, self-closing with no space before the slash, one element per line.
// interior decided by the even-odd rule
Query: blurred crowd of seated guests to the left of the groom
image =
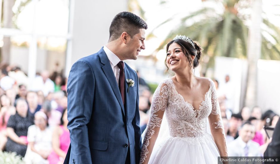
<path fill-rule="evenodd" d="M 70 145 L 67 79 L 42 71 L 29 81 L 17 66 L 0 69 L 0 150 L 27 164 L 63 163 Z"/>

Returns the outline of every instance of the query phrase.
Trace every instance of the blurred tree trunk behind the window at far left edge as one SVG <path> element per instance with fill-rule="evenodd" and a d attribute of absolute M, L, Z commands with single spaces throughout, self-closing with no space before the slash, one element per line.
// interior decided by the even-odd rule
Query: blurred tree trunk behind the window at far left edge
<path fill-rule="evenodd" d="M 3 1 L 3 27 L 12 28 L 12 17 L 13 11 L 12 7 L 15 4 L 15 0 L 4 0 Z M 4 45 L 1 50 L 1 62 L 9 63 L 10 62 L 10 49 L 11 49 L 11 40 L 10 37 L 3 38 Z"/>

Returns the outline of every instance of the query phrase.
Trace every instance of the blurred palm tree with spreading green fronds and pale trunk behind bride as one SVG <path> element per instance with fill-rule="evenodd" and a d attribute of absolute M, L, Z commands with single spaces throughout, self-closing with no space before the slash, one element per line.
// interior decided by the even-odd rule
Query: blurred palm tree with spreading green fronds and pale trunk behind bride
<path fill-rule="evenodd" d="M 203 7 L 182 18 L 178 28 L 169 33 L 156 51 L 163 49 L 176 34 L 181 34 L 199 41 L 204 47 L 203 52 L 207 55 L 204 56 L 206 62 L 202 65 L 202 72 L 214 65 L 215 56 L 248 58 L 248 88 L 245 93 L 241 93 L 246 95 L 246 99 L 240 106 L 246 104 L 253 107 L 257 99 L 257 61 L 259 58 L 280 60 L 280 30 L 267 18 L 262 18 L 262 0 L 203 1 L 212 1 L 223 6 L 223 12 L 217 13 L 214 8 Z M 242 12 L 244 9 L 252 10 L 252 20 L 250 15 Z M 194 23 L 186 25 L 188 21 Z M 252 21 L 249 40 L 249 27 L 246 25 L 248 21 Z"/>

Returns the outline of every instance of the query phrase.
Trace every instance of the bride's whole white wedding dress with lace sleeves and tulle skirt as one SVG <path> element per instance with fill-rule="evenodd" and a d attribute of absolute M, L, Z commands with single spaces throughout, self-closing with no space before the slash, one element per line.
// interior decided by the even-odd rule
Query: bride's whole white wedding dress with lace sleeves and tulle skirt
<path fill-rule="evenodd" d="M 140 163 L 217 164 L 220 154 L 227 155 L 220 107 L 214 82 L 210 79 L 209 86 L 205 100 L 195 110 L 176 91 L 171 78 L 159 84 L 150 109 Z M 153 150 L 164 112 L 169 137 Z M 207 117 L 214 140 L 206 129 Z"/>

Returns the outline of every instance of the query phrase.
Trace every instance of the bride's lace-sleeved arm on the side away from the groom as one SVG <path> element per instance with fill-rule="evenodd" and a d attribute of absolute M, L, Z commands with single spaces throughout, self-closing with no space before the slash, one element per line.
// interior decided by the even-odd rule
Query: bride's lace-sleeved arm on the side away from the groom
<path fill-rule="evenodd" d="M 211 103 L 212 110 L 209 115 L 209 123 L 211 127 L 211 133 L 213 135 L 214 141 L 220 151 L 221 157 L 227 157 L 227 147 L 225 144 L 225 131 L 223 120 L 221 117 L 220 105 L 218 102 L 218 96 L 214 82 L 210 80 L 210 90 L 211 90 Z"/>

